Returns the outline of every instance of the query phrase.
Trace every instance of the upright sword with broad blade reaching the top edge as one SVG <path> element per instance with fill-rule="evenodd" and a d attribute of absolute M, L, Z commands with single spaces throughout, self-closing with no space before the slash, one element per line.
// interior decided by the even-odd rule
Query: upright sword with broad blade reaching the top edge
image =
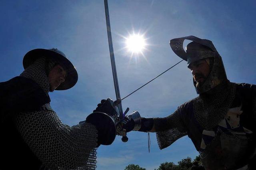
<path fill-rule="evenodd" d="M 113 80 L 114 80 L 114 87 L 115 87 L 115 92 L 116 92 L 116 100 L 120 100 L 121 97 L 120 97 L 120 91 L 119 91 L 118 79 L 117 79 L 117 73 L 116 73 L 116 63 L 115 63 L 115 57 L 114 57 L 114 49 L 113 49 L 113 43 L 112 43 L 110 19 L 109 19 L 109 12 L 108 12 L 108 0 L 104 0 L 104 6 L 105 6 L 107 32 L 108 32 L 108 47 L 109 47 L 109 52 L 110 52 L 110 60 L 111 60 L 112 74 L 113 74 Z M 117 105 L 117 107 L 118 107 L 118 111 L 119 111 L 120 120 L 123 120 L 124 113 L 123 113 L 123 109 L 122 109 L 121 100 L 118 103 L 119 104 Z M 127 113 L 127 111 L 128 111 L 128 108 L 126 109 L 126 113 Z M 123 136 L 122 141 L 127 142 L 128 137 Z"/>

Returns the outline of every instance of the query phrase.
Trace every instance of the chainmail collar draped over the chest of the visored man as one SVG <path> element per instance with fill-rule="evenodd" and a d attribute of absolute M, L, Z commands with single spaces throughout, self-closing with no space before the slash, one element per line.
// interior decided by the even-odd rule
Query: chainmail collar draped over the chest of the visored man
<path fill-rule="evenodd" d="M 236 94 L 236 84 L 216 86 L 210 94 L 200 94 L 193 99 L 196 121 L 206 130 L 212 130 L 227 114 Z"/>

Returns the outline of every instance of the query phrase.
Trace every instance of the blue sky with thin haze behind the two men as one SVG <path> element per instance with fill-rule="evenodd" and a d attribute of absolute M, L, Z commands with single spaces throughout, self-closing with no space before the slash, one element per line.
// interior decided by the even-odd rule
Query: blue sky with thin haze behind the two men
<path fill-rule="evenodd" d="M 255 0 L 109 0 L 110 24 L 121 97 L 180 61 L 173 38 L 195 35 L 210 39 L 223 58 L 231 82 L 256 84 Z M 76 66 L 78 82 L 50 94 L 51 106 L 68 125 L 84 120 L 104 98 L 115 99 L 103 0 L 0 0 L 0 81 L 18 76 L 23 56 L 35 48 L 58 48 Z M 129 33 L 144 33 L 147 50 L 131 57 Z M 187 42 L 188 43 L 188 42 Z M 143 117 L 165 117 L 196 97 L 186 62 L 122 101 L 123 110 Z M 128 113 L 128 114 L 129 114 Z M 156 135 L 128 133 L 98 148 L 98 170 L 122 170 L 139 164 L 147 170 L 162 162 L 198 155 L 188 137 L 160 150 Z"/>

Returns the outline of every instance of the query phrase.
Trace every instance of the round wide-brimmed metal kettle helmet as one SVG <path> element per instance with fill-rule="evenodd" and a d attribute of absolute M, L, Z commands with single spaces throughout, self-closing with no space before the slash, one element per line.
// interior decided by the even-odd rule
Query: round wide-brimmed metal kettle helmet
<path fill-rule="evenodd" d="M 56 88 L 55 90 L 67 90 L 69 88 L 72 88 L 76 84 L 78 80 L 78 74 L 75 66 L 69 61 L 69 59 L 62 51 L 55 48 L 33 49 L 31 51 L 28 51 L 28 53 L 26 53 L 23 58 L 24 69 L 30 66 L 39 57 L 46 57 L 46 59 L 50 60 L 52 59 L 57 63 L 64 65 L 65 67 L 65 70 L 67 72 L 65 81 L 62 82 L 60 86 L 58 86 L 58 88 Z"/>

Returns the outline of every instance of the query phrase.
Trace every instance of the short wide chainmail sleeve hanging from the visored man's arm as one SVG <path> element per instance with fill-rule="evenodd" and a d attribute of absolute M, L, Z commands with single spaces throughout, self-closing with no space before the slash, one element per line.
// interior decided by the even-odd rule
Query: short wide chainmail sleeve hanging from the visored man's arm
<path fill-rule="evenodd" d="M 176 140 L 187 135 L 177 110 L 167 117 L 154 118 L 154 127 L 157 131 L 156 139 L 160 149 L 170 146 Z"/>

